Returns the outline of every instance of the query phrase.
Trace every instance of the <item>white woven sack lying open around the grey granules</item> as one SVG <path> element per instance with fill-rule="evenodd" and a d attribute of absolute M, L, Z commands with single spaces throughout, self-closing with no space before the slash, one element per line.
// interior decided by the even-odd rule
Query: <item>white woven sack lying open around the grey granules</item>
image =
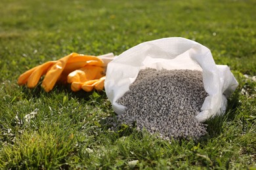
<path fill-rule="evenodd" d="M 226 98 L 238 82 L 226 65 L 216 65 L 211 51 L 198 42 L 181 37 L 171 37 L 143 42 L 117 56 L 108 63 L 105 90 L 117 114 L 125 111 L 117 99 L 129 90 L 140 69 L 191 69 L 203 72 L 203 85 L 209 94 L 196 116 L 199 122 L 222 114 L 226 110 Z"/>

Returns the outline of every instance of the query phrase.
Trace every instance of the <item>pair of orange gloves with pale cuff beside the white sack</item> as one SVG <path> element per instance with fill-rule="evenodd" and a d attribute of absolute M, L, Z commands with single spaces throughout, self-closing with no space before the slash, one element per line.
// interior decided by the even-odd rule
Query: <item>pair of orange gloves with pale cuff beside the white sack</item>
<path fill-rule="evenodd" d="M 72 53 L 26 71 L 18 78 L 18 84 L 34 88 L 41 76 L 45 75 L 41 86 L 46 92 L 53 90 L 56 82 L 70 83 L 74 92 L 81 89 L 85 92 L 103 90 L 106 66 L 113 58 L 112 53 L 98 57 Z"/>

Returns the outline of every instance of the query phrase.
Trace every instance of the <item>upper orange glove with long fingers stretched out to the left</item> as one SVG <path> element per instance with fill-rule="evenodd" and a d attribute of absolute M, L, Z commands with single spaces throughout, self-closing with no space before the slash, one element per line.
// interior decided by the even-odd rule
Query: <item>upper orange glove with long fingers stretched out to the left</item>
<path fill-rule="evenodd" d="M 85 56 L 83 54 L 72 53 L 57 61 L 48 61 L 26 71 L 18 78 L 18 84 L 26 84 L 28 88 L 34 88 L 41 76 L 45 75 L 41 86 L 46 92 L 49 92 L 53 89 L 53 86 L 57 81 L 65 82 L 68 74 L 72 71 L 90 65 L 102 67 L 104 63 L 102 59 L 97 58 L 96 56 Z"/>

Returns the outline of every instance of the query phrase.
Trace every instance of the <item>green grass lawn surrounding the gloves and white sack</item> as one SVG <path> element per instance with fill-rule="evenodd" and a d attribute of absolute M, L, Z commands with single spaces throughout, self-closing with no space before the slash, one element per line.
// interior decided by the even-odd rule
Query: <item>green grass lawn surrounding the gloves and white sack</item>
<path fill-rule="evenodd" d="M 0 169 L 255 169 L 256 2 L 39 1 L 0 5 Z M 104 92 L 44 92 L 16 84 L 24 71 L 71 52 L 121 52 L 140 42 L 185 37 L 230 66 L 240 85 L 200 141 L 163 141 L 108 130 Z M 245 95 L 244 90 L 247 92 Z M 243 91 L 243 93 L 242 93 Z M 24 116 L 39 109 L 30 122 Z"/>

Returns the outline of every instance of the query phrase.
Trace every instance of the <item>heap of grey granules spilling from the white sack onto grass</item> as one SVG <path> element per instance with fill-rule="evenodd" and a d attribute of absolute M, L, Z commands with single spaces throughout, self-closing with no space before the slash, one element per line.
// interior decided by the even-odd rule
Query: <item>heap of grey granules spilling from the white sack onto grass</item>
<path fill-rule="evenodd" d="M 143 69 L 117 103 L 127 110 L 117 116 L 121 124 L 137 122 L 163 139 L 198 139 L 206 125 L 194 117 L 207 96 L 201 71 Z"/>

